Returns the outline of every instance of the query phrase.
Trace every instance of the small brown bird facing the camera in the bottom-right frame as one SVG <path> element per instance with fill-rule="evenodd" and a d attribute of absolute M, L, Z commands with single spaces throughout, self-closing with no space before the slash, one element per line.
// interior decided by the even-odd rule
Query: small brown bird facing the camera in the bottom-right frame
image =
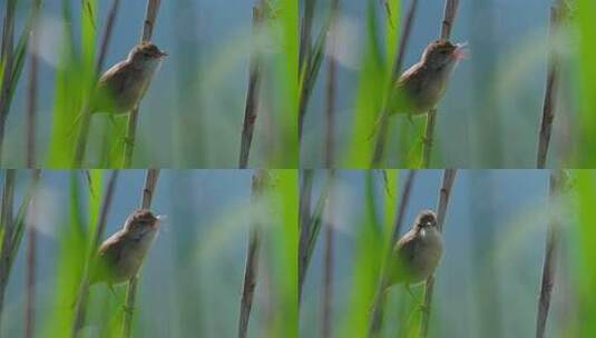
<path fill-rule="evenodd" d="M 441 260 L 443 241 L 437 229 L 437 215 L 422 210 L 412 229 L 403 235 L 393 248 L 388 287 L 404 284 L 407 288 L 432 276 Z"/>

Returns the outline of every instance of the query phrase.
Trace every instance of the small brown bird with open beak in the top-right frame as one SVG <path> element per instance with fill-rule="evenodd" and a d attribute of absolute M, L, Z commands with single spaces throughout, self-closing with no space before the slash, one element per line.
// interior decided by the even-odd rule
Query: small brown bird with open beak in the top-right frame
<path fill-rule="evenodd" d="M 447 80 L 459 60 L 467 57 L 466 43 L 431 42 L 418 63 L 404 71 L 392 89 L 388 113 L 422 115 L 442 98 Z"/>

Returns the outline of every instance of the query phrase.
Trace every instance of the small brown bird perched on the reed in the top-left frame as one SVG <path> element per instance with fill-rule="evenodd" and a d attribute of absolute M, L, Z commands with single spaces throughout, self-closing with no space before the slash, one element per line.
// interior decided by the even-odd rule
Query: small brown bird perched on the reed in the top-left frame
<path fill-rule="evenodd" d="M 148 41 L 135 46 L 126 60 L 114 64 L 99 78 L 91 111 L 118 115 L 133 110 L 166 56 Z"/>

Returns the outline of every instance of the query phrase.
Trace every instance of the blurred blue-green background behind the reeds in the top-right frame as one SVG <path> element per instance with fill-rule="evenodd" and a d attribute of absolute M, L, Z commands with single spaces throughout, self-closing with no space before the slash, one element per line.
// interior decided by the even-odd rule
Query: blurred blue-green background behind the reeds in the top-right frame
<path fill-rule="evenodd" d="M 360 61 L 365 46 L 365 16 L 369 1 L 340 1 L 340 62 L 338 72 L 338 156 L 346 151 L 354 123 Z M 444 1 L 418 1 L 403 70 L 416 63 L 424 47 L 440 32 Z M 462 60 L 439 103 L 431 168 L 533 168 L 546 83 L 547 38 L 550 0 L 460 1 L 451 39 L 468 42 L 470 58 Z M 384 30 L 382 1 L 377 6 L 379 31 Z M 404 16 L 409 0 L 401 0 Z M 328 1 L 317 1 L 315 34 L 326 18 Z M 569 37 L 569 40 L 573 40 Z M 379 34 L 383 44 L 383 36 Z M 563 50 L 564 56 L 573 52 Z M 566 57 L 564 57 L 565 59 Z M 329 60 L 329 59 L 328 59 Z M 565 61 L 564 61 L 565 63 Z M 321 168 L 324 145 L 326 60 L 305 119 L 303 168 Z M 547 167 L 567 159 L 574 121 L 569 98 L 575 98 L 569 72 L 564 67 L 560 87 L 566 97 L 554 123 Z M 398 118 L 393 118 L 394 120 Z M 400 123 L 409 125 L 406 118 Z M 394 125 L 397 127 L 397 125 Z M 408 127 L 408 126 L 407 126 Z M 398 128 L 390 132 L 388 165 L 395 166 Z M 419 141 L 419 140 L 414 140 Z M 391 153 L 393 152 L 393 156 Z M 398 167 L 401 168 L 401 167 Z"/>

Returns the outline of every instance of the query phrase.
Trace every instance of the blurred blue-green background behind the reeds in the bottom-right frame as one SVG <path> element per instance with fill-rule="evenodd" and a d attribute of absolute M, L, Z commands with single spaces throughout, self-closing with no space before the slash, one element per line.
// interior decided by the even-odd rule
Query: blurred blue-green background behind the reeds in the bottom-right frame
<path fill-rule="evenodd" d="M 352 305 L 359 227 L 365 210 L 365 171 L 339 171 L 334 202 L 334 274 L 332 329 L 342 331 Z M 381 172 L 374 172 L 374 193 L 382 203 L 385 188 Z M 399 185 L 404 183 L 401 172 Z M 444 252 L 436 271 L 430 337 L 531 337 L 535 334 L 546 221 L 554 210 L 547 205 L 549 171 L 459 170 L 444 221 Z M 436 209 L 442 171 L 419 171 L 403 219 L 402 235 L 416 215 Z M 324 179 L 316 171 L 314 196 Z M 382 219 L 382 206 L 378 206 Z M 392 206 L 394 215 L 394 206 Z M 574 218 L 561 222 L 561 249 L 553 291 L 547 332 L 565 336 L 574 318 L 571 288 L 575 267 L 569 259 L 569 233 Z M 321 325 L 324 230 L 317 240 L 309 267 L 301 307 L 301 337 L 314 337 Z M 371 258 L 372 259 L 372 258 Z M 372 262 L 371 262 L 372 264 Z M 420 290 L 422 287 L 413 287 Z M 409 299 L 403 287 L 389 291 L 385 335 L 397 337 L 404 324 L 394 314 L 399 297 Z M 421 294 L 418 294 L 422 297 Z M 371 300 L 372 301 L 372 300 Z M 414 308 L 416 310 L 416 308 Z M 410 319 L 411 320 L 411 319 Z M 412 322 L 410 322 L 412 324 Z M 417 321 L 413 321 L 417 326 Z"/>

